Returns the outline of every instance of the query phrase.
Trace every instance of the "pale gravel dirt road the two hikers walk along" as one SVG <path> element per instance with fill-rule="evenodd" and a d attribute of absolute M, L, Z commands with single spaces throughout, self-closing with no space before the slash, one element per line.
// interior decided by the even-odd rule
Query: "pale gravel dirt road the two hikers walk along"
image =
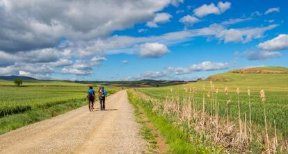
<path fill-rule="evenodd" d="M 0 153 L 143 153 L 133 108 L 122 90 L 107 98 L 106 111 L 88 106 L 0 135 Z"/>

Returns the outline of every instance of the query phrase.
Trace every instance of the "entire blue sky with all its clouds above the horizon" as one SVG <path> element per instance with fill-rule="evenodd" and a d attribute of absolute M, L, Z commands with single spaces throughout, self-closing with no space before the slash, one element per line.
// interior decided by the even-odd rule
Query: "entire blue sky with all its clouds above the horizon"
<path fill-rule="evenodd" d="M 0 0 L 0 76 L 195 80 L 288 67 L 288 1 Z"/>

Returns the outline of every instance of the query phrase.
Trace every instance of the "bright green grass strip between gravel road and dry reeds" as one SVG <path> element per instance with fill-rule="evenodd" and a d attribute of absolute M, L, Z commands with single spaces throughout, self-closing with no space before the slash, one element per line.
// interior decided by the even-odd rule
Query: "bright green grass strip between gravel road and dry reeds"
<path fill-rule="evenodd" d="M 169 144 L 167 153 L 211 153 L 211 149 L 205 146 L 197 138 L 198 135 L 193 130 L 182 129 L 175 126 L 175 121 L 164 117 L 152 110 L 152 104 L 149 101 L 140 99 L 134 92 L 128 91 L 129 100 L 136 108 L 141 108 L 149 121 L 161 132 Z M 138 110 L 138 109 L 137 109 Z M 137 117 L 137 116 L 136 116 Z M 191 142 L 190 135 L 193 135 Z"/>

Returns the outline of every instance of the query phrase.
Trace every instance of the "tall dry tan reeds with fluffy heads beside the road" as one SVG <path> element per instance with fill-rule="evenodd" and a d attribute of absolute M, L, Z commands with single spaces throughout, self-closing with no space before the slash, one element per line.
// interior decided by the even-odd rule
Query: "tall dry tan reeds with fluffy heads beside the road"
<path fill-rule="evenodd" d="M 152 102 L 153 106 L 159 106 L 157 108 L 153 107 L 155 108 L 155 112 L 173 119 L 173 121 L 176 121 L 179 126 L 181 126 L 182 123 L 188 123 L 189 129 L 193 129 L 201 136 L 211 139 L 215 144 L 225 147 L 227 149 L 227 153 L 233 153 L 231 151 L 235 152 L 235 149 L 237 149 L 237 152 L 241 153 L 252 153 L 252 151 L 249 150 L 252 144 L 257 144 L 259 147 L 265 147 L 266 150 L 261 151 L 262 153 L 278 153 L 281 151 L 287 151 L 287 146 L 279 145 L 280 142 L 278 141 L 283 141 L 283 139 L 277 138 L 275 121 L 273 121 L 274 128 L 271 130 L 273 135 L 269 135 L 265 108 L 266 96 L 264 90 L 260 92 L 265 122 L 265 135 L 262 136 L 261 132 L 257 132 L 259 129 L 253 129 L 250 89 L 247 90 L 249 117 L 247 116 L 247 112 L 244 112 L 244 116 L 241 117 L 242 106 L 240 102 L 240 89 L 237 88 L 236 90 L 238 102 L 238 122 L 235 123 L 233 120 L 230 121 L 231 117 L 229 113 L 232 99 L 229 96 L 228 87 L 225 87 L 223 90 L 226 97 L 226 102 L 223 103 L 217 100 L 219 89 L 215 88 L 213 83 L 210 84 L 211 90 L 207 90 L 205 85 L 202 86 L 202 103 L 200 103 L 202 108 L 201 106 L 200 108 L 197 106 L 198 99 L 195 97 L 197 94 L 197 89 L 193 86 L 190 86 L 189 89 L 184 89 L 185 94 L 182 99 L 179 99 L 179 96 L 173 93 L 173 90 L 171 89 L 164 101 L 157 99 L 154 99 L 154 101 L 151 101 L 153 99 L 149 99 L 149 101 Z M 210 107 L 210 110 L 206 110 L 207 106 Z M 224 117 L 219 116 L 220 106 L 225 108 Z M 273 142 L 269 142 L 269 137 L 273 138 Z M 262 144 L 263 139 L 265 140 L 265 144 Z"/>

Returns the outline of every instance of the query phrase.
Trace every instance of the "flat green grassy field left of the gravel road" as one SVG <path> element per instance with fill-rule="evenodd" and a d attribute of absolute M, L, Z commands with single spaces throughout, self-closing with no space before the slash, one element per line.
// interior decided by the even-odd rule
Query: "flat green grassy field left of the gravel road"
<path fill-rule="evenodd" d="M 22 87 L 16 87 L 13 81 L 0 80 L 0 134 L 86 105 L 88 86 L 58 80 L 24 80 Z M 120 87 L 106 89 L 113 94 Z"/>

